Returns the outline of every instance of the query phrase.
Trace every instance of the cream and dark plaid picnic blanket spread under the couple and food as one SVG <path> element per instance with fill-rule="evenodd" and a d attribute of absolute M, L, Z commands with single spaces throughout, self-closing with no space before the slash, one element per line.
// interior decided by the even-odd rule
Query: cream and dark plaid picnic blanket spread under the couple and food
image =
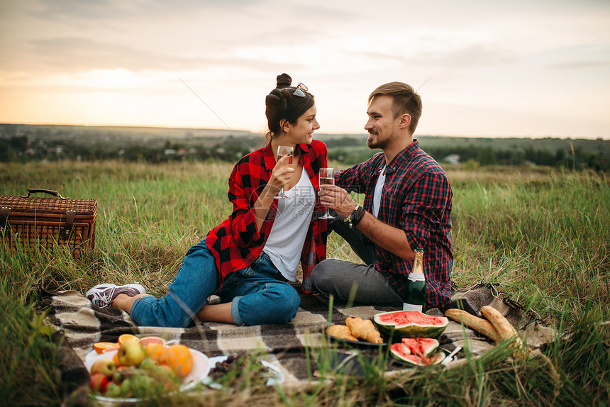
<path fill-rule="evenodd" d="M 297 289 L 298 284 L 295 285 Z M 329 320 L 332 323 L 345 323 L 347 316 L 372 319 L 376 313 L 398 309 L 357 304 L 348 307 L 344 302 L 335 301 L 329 316 L 331 307 L 328 299 L 319 295 L 302 295 L 296 317 L 287 324 L 235 326 L 225 323 L 197 323 L 189 328 L 155 328 L 136 326 L 128 313 L 118 308 L 96 308 L 77 291 L 40 291 L 40 296 L 43 303 L 50 308 L 48 323 L 65 335 L 65 342 L 77 355 L 67 362 L 64 367 L 67 371 L 77 369 L 82 372 L 82 365 L 75 365 L 78 361 L 84 361 L 87 354 L 93 350 L 95 342 L 116 342 L 119 335 L 132 333 L 138 336 L 155 335 L 168 341 L 176 340 L 208 357 L 262 350 L 267 355 L 267 362 L 281 369 L 285 377 L 283 385 L 296 388 L 312 380 L 312 361 L 306 357 L 304 350 L 306 347 L 318 347 L 325 340 L 328 342 L 324 330 Z M 479 316 L 482 306 L 497 308 L 530 346 L 538 347 L 553 338 L 553 330 L 543 326 L 533 313 L 524 311 L 518 303 L 508 298 L 500 298 L 492 284 L 479 285 L 472 289 L 455 289 L 449 308 L 457 308 L 458 303 L 460 308 Z M 442 315 L 438 308 L 428 310 L 427 313 Z M 451 320 L 438 340 L 445 352 L 462 346 L 474 355 L 482 355 L 494 346 L 491 340 Z M 372 351 L 374 350 L 370 347 L 355 350 Z M 456 355 L 455 362 L 464 357 L 460 355 Z M 446 367 L 450 368 L 455 362 L 447 364 Z M 315 369 L 315 366 L 313 367 Z M 389 364 L 388 367 L 389 370 L 404 368 L 402 364 Z"/>

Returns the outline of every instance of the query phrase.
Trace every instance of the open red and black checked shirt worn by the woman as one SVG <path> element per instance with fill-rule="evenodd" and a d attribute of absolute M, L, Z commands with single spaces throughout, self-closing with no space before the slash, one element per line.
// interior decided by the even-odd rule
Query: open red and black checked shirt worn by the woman
<path fill-rule="evenodd" d="M 316 191 L 320 189 L 318 172 L 326 167 L 326 145 L 320 140 L 312 140 L 311 145 L 299 144 L 299 157 L 309 180 Z M 275 213 L 277 199 L 274 199 L 260 230 L 256 227 L 254 203 L 270 179 L 275 167 L 275 153 L 271 143 L 242 157 L 233 167 L 228 179 L 228 199 L 233 202 L 233 213 L 223 223 L 209 231 L 206 244 L 216 257 L 216 267 L 224 281 L 227 274 L 249 267 L 254 262 L 269 237 Z M 303 251 L 301 267 L 303 269 L 303 291 L 311 294 L 311 270 L 326 258 L 326 221 L 314 221 L 316 213 L 323 207 L 316 196 L 316 211 L 309 224 Z"/>

